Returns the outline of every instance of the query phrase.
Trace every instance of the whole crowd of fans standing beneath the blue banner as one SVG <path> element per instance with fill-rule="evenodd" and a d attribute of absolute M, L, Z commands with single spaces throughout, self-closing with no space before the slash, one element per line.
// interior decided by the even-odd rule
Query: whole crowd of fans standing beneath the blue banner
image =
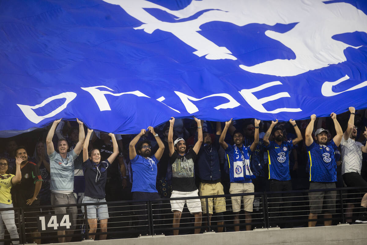
<path fill-rule="evenodd" d="M 356 112 L 353 107 L 338 116 L 333 113 L 316 119 L 312 115 L 297 123 L 292 119 L 289 122 L 257 119 L 210 122 L 171 118 L 159 127 L 142 129 L 137 135 L 116 136 L 87 129 L 78 119 L 76 122 L 60 119 L 36 131 L 37 142 L 29 138 L 30 133 L 3 139 L 0 208 L 30 205 L 37 212 L 38 205 L 72 204 L 77 199 L 95 203 L 366 187 L 366 126 L 367 110 Z M 34 151 L 30 157 L 32 144 Z M 309 219 L 316 219 L 321 213 L 330 218 L 335 209 L 333 195 L 334 191 L 310 194 Z M 279 203 L 284 197 L 287 195 L 275 196 L 272 205 L 275 213 L 280 210 Z M 235 231 L 239 230 L 236 224 L 241 203 L 246 223 L 251 223 L 253 201 L 253 195 L 231 197 Z M 223 224 L 225 198 L 208 199 L 209 210 L 205 202 L 205 199 L 171 201 L 172 224 L 177 228 L 174 235 L 179 234 L 185 204 L 195 216 L 195 226 L 201 226 L 202 213 L 206 212 L 210 219 L 214 212 L 217 224 Z M 323 204 L 325 212 L 322 212 Z M 366 206 L 367 195 L 364 195 L 358 207 L 361 215 L 366 212 Z M 101 232 L 106 232 L 107 205 L 90 205 L 87 211 L 90 233 L 95 233 L 97 225 Z M 75 206 L 54 208 L 54 212 L 68 213 L 73 219 L 77 215 Z M 135 212 L 144 215 L 144 211 Z M 12 239 L 18 238 L 14 210 L 0 211 L 0 214 L 0 225 L 5 224 Z M 26 216 L 26 223 L 35 222 L 34 216 L 34 213 Z M 361 216 L 357 221 L 367 223 L 365 218 Z M 309 222 L 309 226 L 315 224 L 316 221 Z M 324 224 L 331 225 L 331 221 Z M 218 232 L 222 230 L 223 227 L 218 227 Z M 251 230 L 251 226 L 247 225 L 246 230 Z M 2 239 L 4 228 L 0 227 L 0 231 Z M 40 236 L 36 230 L 32 232 L 34 237 Z M 200 228 L 195 233 L 200 233 Z M 58 235 L 62 234 L 68 231 L 58 231 Z M 59 242 L 70 238 L 59 238 Z M 99 236 L 105 238 L 106 235 Z"/>

